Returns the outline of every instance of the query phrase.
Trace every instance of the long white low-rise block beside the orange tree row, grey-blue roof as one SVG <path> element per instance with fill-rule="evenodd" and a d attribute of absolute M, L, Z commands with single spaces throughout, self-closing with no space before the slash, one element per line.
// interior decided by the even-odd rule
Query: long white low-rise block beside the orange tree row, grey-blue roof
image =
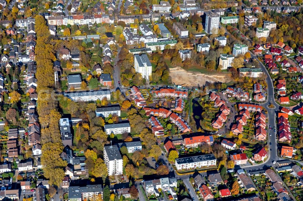
<path fill-rule="evenodd" d="M 111 93 L 109 89 L 99 89 L 91 91 L 74 91 L 63 93 L 65 97 L 68 97 L 72 101 L 97 101 L 102 100 L 102 98 L 111 99 Z"/>

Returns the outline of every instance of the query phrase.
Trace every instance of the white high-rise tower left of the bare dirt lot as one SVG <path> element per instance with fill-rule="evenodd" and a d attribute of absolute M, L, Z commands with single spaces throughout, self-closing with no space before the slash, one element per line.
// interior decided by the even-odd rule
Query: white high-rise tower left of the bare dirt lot
<path fill-rule="evenodd" d="M 134 67 L 137 73 L 141 73 L 143 78 L 149 80 L 151 76 L 151 62 L 146 54 L 134 55 Z"/>

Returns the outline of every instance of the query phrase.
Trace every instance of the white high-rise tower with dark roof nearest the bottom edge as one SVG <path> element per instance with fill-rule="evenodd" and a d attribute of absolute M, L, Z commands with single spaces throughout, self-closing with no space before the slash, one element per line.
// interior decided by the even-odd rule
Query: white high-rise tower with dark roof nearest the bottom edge
<path fill-rule="evenodd" d="M 108 175 L 123 174 L 123 159 L 117 145 L 104 146 L 103 156 Z"/>

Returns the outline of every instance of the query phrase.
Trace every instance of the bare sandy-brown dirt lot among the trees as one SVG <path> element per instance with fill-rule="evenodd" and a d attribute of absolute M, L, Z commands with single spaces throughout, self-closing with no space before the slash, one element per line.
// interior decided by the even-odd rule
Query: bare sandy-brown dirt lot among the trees
<path fill-rule="evenodd" d="M 188 86 L 202 86 L 206 82 L 229 82 L 231 77 L 229 73 L 220 73 L 214 71 L 214 73 L 199 73 L 199 72 L 188 72 L 181 67 L 169 69 L 171 80 L 175 85 L 188 85 Z"/>

